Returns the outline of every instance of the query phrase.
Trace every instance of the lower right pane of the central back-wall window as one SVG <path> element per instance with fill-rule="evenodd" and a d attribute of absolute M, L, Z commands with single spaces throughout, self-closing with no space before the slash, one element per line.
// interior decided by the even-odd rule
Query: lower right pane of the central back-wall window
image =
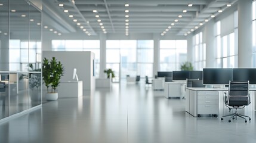
<path fill-rule="evenodd" d="M 153 64 L 138 64 L 137 73 L 140 77 L 153 76 Z"/>

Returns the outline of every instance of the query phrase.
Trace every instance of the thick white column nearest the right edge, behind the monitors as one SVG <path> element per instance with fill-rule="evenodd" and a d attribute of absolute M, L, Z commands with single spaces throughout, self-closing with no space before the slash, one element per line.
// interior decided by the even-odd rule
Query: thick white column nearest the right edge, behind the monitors
<path fill-rule="evenodd" d="M 252 67 L 252 1 L 238 1 L 238 67 Z"/>

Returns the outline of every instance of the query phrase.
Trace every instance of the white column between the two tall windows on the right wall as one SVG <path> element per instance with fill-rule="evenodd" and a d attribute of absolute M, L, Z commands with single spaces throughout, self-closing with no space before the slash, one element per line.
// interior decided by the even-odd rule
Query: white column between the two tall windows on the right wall
<path fill-rule="evenodd" d="M 211 20 L 205 25 L 205 30 L 203 32 L 206 43 L 206 67 L 215 67 L 217 47 L 215 46 L 214 33 L 214 20 Z"/>

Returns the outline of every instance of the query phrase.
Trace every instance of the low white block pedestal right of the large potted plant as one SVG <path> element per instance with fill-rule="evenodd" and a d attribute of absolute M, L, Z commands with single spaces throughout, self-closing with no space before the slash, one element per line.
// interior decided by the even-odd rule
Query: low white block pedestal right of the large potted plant
<path fill-rule="evenodd" d="M 63 97 L 82 97 L 83 82 L 82 81 L 67 81 L 60 82 L 58 86 L 58 98 Z"/>

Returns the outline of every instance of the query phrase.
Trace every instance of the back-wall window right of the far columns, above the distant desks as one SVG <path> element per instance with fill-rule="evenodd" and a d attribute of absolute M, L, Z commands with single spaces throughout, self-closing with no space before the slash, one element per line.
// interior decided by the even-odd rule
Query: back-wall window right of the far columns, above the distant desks
<path fill-rule="evenodd" d="M 186 40 L 160 41 L 160 71 L 180 70 L 180 65 L 187 60 Z"/>

